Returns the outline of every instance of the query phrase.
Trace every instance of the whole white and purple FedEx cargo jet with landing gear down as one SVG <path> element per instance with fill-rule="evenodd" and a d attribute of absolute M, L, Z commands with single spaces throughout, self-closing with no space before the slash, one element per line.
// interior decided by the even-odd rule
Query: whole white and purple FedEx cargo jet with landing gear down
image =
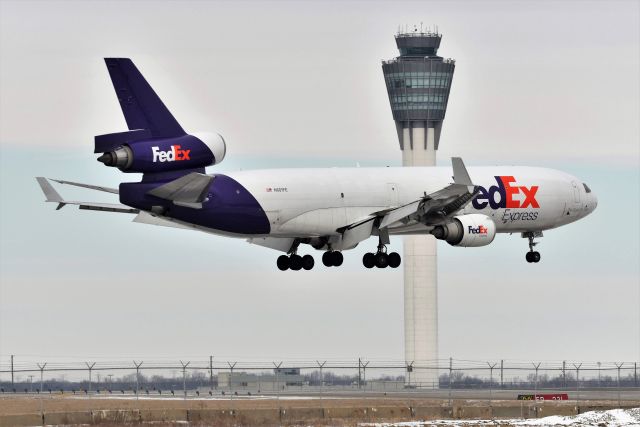
<path fill-rule="evenodd" d="M 340 266 L 342 251 L 371 236 L 366 268 L 397 268 L 390 235 L 433 235 L 458 247 L 490 244 L 496 233 L 528 239 L 526 260 L 544 230 L 593 212 L 597 199 L 578 178 L 534 167 L 472 167 L 452 158 L 451 167 L 266 169 L 205 173 L 220 163 L 226 143 L 218 134 L 188 134 L 127 58 L 105 59 L 127 126 L 95 137 L 98 161 L 139 182 L 107 188 L 53 180 L 118 194 L 121 204 L 68 201 L 38 177 L 48 202 L 80 209 L 136 214 L 135 222 L 199 230 L 247 239 L 284 254 L 280 270 L 310 270 L 311 255 L 324 251 L 325 266 Z"/>

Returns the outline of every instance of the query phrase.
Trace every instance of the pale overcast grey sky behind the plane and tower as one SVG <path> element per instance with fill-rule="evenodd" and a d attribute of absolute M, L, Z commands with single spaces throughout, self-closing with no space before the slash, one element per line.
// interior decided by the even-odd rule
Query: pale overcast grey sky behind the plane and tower
<path fill-rule="evenodd" d="M 438 162 L 573 173 L 600 204 L 526 241 L 439 245 L 440 355 L 640 359 L 640 6 L 600 2 L 0 1 L 0 358 L 403 358 L 402 269 L 281 273 L 276 252 L 55 211 L 34 176 L 117 186 L 106 56 L 249 168 L 399 165 L 382 59 L 437 24 L 456 59 Z M 63 187 L 65 196 L 103 196 Z M 399 239 L 394 249 L 401 248 Z"/>

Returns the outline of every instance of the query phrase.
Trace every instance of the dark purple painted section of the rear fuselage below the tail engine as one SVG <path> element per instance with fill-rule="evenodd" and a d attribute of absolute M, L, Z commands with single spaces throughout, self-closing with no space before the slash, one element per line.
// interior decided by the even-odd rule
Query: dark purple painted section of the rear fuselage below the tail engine
<path fill-rule="evenodd" d="M 128 206 L 151 210 L 165 208 L 165 215 L 191 224 L 236 234 L 269 234 L 269 219 L 255 197 L 240 183 L 226 175 L 215 175 L 202 209 L 174 205 L 146 193 L 166 184 L 135 182 L 120 184 L 120 201 Z"/>

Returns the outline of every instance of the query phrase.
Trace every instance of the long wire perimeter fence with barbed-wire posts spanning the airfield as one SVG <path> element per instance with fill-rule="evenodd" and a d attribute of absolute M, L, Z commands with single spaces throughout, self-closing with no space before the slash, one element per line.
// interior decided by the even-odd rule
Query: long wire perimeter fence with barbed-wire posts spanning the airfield
<path fill-rule="evenodd" d="M 425 381 L 425 378 L 427 381 Z M 239 396 L 313 393 L 418 393 L 448 389 L 610 392 L 639 399 L 638 362 L 440 359 L 377 360 L 92 360 L 3 358 L 0 394 Z M 629 393 L 631 392 L 631 393 Z M 602 393 L 600 393 L 602 396 Z"/>

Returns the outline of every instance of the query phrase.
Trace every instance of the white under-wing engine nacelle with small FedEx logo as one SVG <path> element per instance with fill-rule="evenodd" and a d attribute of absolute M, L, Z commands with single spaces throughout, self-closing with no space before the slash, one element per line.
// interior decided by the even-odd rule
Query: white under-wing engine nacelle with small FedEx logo
<path fill-rule="evenodd" d="M 431 234 L 451 246 L 486 246 L 496 237 L 496 224 L 486 215 L 459 215 L 451 222 L 436 226 Z"/>

